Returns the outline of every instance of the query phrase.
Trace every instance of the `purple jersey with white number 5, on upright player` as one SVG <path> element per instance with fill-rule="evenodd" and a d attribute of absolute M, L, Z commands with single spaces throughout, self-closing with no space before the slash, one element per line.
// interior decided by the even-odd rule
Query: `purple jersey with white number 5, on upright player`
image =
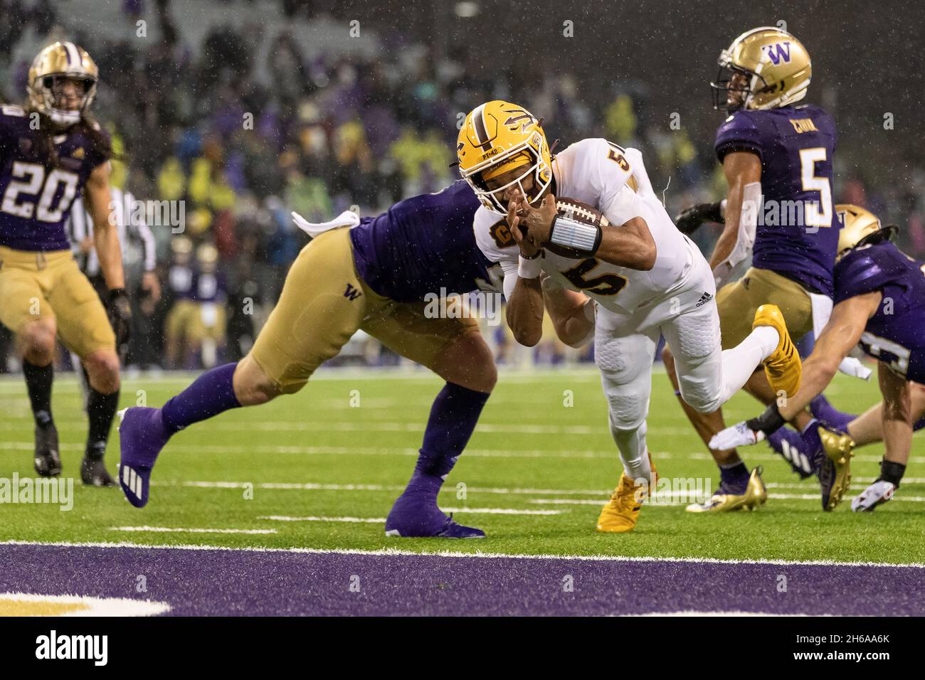
<path fill-rule="evenodd" d="M 761 160 L 764 196 L 753 266 L 810 291 L 833 294 L 841 218 L 832 200 L 835 124 L 819 106 L 736 111 L 716 133 L 716 155 L 746 151 Z"/>

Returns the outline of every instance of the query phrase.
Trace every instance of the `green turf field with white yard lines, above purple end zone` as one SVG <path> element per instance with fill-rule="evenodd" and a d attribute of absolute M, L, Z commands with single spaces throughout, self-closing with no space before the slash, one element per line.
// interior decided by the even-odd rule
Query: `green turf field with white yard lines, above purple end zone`
<path fill-rule="evenodd" d="M 799 482 L 782 459 L 759 444 L 743 450 L 749 465 L 765 466 L 771 498 L 759 512 L 694 515 L 683 505 L 653 505 L 643 509 L 632 534 L 595 533 L 599 506 L 618 478 L 618 458 L 593 369 L 502 372 L 441 495 L 441 506 L 458 509 L 456 518 L 463 524 L 484 528 L 487 540 L 385 538 L 381 521 L 346 520 L 386 516 L 411 474 L 440 382 L 424 372 L 350 369 L 317 378 L 295 396 L 222 414 L 171 439 L 143 510 L 130 507 L 117 488 L 80 486 L 85 419 L 76 382 L 57 378 L 54 411 L 64 476 L 77 476 L 73 510 L 0 505 L 0 541 L 925 563 L 920 437 L 914 440 L 907 483 L 896 500 L 875 513 L 851 513 L 850 498 L 834 513 L 822 513 L 815 481 Z M 161 405 L 189 379 L 127 380 L 121 406 L 142 398 Z M 648 441 L 660 475 L 710 477 L 716 485 L 717 470 L 687 425 L 667 377 L 659 374 L 654 381 Z M 572 390 L 571 407 L 564 405 L 566 390 Z M 875 384 L 848 377 L 837 377 L 827 393 L 845 409 L 878 401 Z M 759 410 L 739 395 L 727 405 L 727 420 Z M 0 441 L 0 477 L 34 476 L 31 414 L 19 377 L 0 380 Z M 853 493 L 878 474 L 881 454 L 880 446 L 857 452 Z M 115 474 L 115 432 L 107 460 Z M 532 513 L 472 512 L 480 510 Z M 278 517 L 325 519 L 272 519 Z M 261 533 L 154 532 L 153 527 Z"/>

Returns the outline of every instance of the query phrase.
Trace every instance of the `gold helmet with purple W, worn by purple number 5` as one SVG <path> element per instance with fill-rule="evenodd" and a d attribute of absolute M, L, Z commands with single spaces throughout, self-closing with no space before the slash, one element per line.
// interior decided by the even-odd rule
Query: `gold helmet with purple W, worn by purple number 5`
<path fill-rule="evenodd" d="M 762 26 L 746 31 L 720 53 L 720 75 L 709 83 L 713 108 L 721 110 L 768 109 L 786 106 L 806 96 L 812 63 L 803 43 L 787 31 Z M 744 86 L 732 85 L 736 73 Z M 729 93 L 742 93 L 741 101 L 728 103 Z"/>

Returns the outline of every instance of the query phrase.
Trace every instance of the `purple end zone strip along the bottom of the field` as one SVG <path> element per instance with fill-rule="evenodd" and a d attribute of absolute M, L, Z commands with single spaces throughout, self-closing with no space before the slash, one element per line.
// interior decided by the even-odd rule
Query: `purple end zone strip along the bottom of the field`
<path fill-rule="evenodd" d="M 177 615 L 925 612 L 918 567 L 8 544 L 0 564 L 0 592 L 166 601 Z"/>

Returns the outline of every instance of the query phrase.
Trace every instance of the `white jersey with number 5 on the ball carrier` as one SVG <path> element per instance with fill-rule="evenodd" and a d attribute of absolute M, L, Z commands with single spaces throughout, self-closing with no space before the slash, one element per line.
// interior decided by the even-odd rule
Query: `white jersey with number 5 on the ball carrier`
<path fill-rule="evenodd" d="M 593 205 L 607 217 L 611 229 L 633 217 L 646 221 L 655 241 L 655 266 L 649 271 L 628 269 L 587 258 L 575 260 L 546 251 L 543 270 L 563 288 L 582 291 L 602 307 L 627 315 L 644 304 L 681 290 L 692 269 L 706 266 L 697 246 L 674 226 L 665 212 L 636 149 L 623 149 L 603 139 L 575 142 L 556 155 L 552 164 L 557 197 Z M 504 271 L 504 294 L 517 283 L 519 249 L 503 216 L 480 207 L 475 213 L 475 241 Z"/>

